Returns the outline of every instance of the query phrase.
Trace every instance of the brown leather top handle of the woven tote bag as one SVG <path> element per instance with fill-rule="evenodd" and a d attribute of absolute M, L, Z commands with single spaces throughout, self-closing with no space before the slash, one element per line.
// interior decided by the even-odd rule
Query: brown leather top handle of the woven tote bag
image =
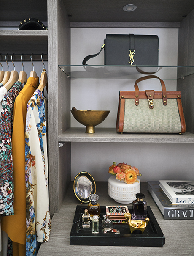
<path fill-rule="evenodd" d="M 143 81 L 143 80 L 147 80 L 147 79 L 151 79 L 151 78 L 157 78 L 160 80 L 161 86 L 162 86 L 162 99 L 163 99 L 163 104 L 167 105 L 167 90 L 166 90 L 166 86 L 164 84 L 164 81 L 162 79 L 160 79 L 157 76 L 154 75 L 150 75 L 150 76 L 145 76 L 145 77 L 140 77 L 135 81 L 135 105 L 139 104 L 139 87 L 137 85 L 137 83 Z"/>

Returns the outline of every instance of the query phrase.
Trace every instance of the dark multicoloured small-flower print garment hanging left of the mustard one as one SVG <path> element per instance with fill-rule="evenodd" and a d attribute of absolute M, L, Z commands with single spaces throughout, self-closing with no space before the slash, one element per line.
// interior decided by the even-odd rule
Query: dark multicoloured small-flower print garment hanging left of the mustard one
<path fill-rule="evenodd" d="M 16 82 L 5 94 L 0 118 L 0 214 L 13 215 L 13 162 L 11 137 L 13 132 L 13 107 L 22 90 Z"/>

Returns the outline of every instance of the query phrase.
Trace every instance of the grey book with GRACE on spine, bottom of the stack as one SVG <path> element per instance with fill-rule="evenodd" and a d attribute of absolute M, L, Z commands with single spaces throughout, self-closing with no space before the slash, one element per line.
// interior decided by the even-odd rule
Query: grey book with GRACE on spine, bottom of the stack
<path fill-rule="evenodd" d="M 172 204 L 159 186 L 159 181 L 148 181 L 148 191 L 164 219 L 194 220 L 194 204 Z"/>

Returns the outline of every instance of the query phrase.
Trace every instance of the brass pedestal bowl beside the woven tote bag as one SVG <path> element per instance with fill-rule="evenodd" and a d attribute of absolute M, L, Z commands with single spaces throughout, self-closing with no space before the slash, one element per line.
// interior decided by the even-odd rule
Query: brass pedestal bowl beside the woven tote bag
<path fill-rule="evenodd" d="M 71 110 L 71 113 L 80 124 L 86 126 L 86 133 L 95 133 L 95 126 L 105 120 L 110 110 Z"/>

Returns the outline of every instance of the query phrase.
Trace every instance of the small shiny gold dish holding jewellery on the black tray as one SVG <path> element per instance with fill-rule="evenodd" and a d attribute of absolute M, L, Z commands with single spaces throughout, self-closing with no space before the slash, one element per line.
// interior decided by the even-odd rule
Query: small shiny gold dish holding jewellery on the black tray
<path fill-rule="evenodd" d="M 135 230 L 140 230 L 143 234 L 148 222 L 150 221 L 149 218 L 145 218 L 144 220 L 132 220 L 130 212 L 124 214 L 127 224 L 129 225 L 131 233 Z"/>

